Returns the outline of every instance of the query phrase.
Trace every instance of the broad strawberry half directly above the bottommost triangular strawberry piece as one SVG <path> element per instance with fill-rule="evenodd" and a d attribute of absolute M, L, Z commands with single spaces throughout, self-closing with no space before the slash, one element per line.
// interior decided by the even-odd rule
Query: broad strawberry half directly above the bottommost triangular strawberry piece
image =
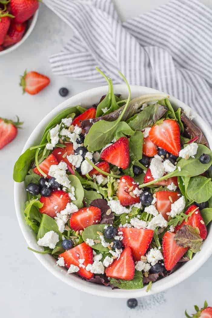
<path fill-rule="evenodd" d="M 119 231 L 123 232 L 124 247 L 131 248 L 133 259 L 141 260 L 141 256 L 145 254 L 151 243 L 154 231 L 134 228 L 120 228 Z"/>

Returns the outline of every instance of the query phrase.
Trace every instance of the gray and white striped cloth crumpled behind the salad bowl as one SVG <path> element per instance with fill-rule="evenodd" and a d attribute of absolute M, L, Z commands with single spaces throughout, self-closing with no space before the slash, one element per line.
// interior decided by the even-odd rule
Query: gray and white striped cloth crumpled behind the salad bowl
<path fill-rule="evenodd" d="M 74 31 L 50 57 L 57 75 L 105 83 L 118 72 L 132 85 L 153 87 L 212 120 L 212 11 L 197 0 L 169 3 L 121 23 L 111 0 L 44 0 Z"/>

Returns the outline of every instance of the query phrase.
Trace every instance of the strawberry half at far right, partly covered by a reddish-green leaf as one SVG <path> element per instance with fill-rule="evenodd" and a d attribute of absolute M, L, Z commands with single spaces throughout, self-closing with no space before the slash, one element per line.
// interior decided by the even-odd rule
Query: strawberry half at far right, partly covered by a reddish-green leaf
<path fill-rule="evenodd" d="M 200 237 L 201 239 L 206 239 L 207 236 L 207 227 L 205 225 L 205 222 L 203 221 L 202 215 L 199 211 L 198 206 L 195 204 L 190 205 L 188 210 L 185 212 L 185 214 L 189 214 L 190 212 L 196 210 L 191 216 L 188 218 L 188 221 L 185 220 L 181 223 L 181 225 L 177 225 L 175 227 L 175 231 L 181 229 L 183 225 L 191 225 L 193 227 L 198 227 L 200 230 Z"/>

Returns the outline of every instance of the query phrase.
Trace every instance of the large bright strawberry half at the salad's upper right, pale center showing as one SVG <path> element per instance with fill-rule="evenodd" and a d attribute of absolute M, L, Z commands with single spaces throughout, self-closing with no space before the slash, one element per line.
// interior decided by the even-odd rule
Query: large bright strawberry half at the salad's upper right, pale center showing
<path fill-rule="evenodd" d="M 180 151 L 180 128 L 177 121 L 165 119 L 162 123 L 154 125 L 149 137 L 158 147 L 165 149 L 174 156 Z"/>

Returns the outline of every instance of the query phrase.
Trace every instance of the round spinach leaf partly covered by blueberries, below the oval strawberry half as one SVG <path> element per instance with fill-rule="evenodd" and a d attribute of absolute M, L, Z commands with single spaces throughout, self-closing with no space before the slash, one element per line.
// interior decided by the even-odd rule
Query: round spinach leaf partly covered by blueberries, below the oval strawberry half
<path fill-rule="evenodd" d="M 106 224 L 94 224 L 94 225 L 90 225 L 87 228 L 85 228 L 85 230 L 82 232 L 82 238 L 83 241 L 86 242 L 87 239 L 93 239 L 93 240 L 97 240 L 100 241 L 100 235 L 97 234 L 97 232 L 101 232 L 104 233 L 105 232 L 105 227 Z M 113 239 L 106 239 L 105 241 L 108 243 L 111 243 Z M 101 245 L 101 243 L 95 243 L 94 245 L 92 245 L 92 248 L 94 250 L 98 250 L 100 252 L 108 252 L 109 249 L 107 247 L 104 247 L 103 245 Z"/>

